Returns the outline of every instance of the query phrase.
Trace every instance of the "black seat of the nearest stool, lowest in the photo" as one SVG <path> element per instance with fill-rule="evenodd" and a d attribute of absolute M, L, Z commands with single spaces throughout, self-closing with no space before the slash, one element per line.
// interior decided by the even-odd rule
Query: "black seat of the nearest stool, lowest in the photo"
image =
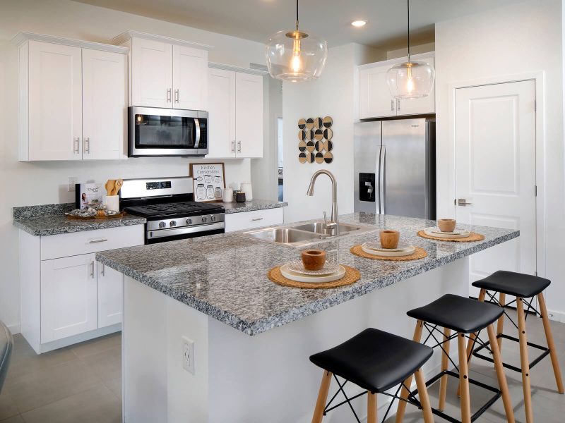
<path fill-rule="evenodd" d="M 365 329 L 334 348 L 311 355 L 310 361 L 367 391 L 378 393 L 415 373 L 432 353 L 427 345 L 378 329 Z"/>

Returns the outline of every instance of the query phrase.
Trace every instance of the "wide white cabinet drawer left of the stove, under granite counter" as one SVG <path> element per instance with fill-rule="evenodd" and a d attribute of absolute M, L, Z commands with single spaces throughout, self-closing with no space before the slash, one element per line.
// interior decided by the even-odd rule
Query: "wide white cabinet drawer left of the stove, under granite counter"
<path fill-rule="evenodd" d="M 56 259 L 143 245 L 144 225 L 120 226 L 41 237 L 41 259 Z"/>

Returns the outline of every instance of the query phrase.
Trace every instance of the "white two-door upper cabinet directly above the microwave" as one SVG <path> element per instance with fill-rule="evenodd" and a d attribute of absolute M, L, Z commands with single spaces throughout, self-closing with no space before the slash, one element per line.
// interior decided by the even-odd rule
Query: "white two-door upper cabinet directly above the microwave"
<path fill-rule="evenodd" d="M 137 31 L 111 42 L 130 48 L 130 106 L 206 110 L 211 46 Z"/>

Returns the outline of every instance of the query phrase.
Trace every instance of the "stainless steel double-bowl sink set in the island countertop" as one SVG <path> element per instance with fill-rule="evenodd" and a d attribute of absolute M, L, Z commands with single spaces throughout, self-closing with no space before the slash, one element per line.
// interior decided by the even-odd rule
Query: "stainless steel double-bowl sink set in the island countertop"
<path fill-rule="evenodd" d="M 378 231 L 374 226 L 352 225 L 350 223 L 340 223 L 340 233 L 335 235 L 335 227 L 327 228 L 323 221 L 307 223 L 296 223 L 294 225 L 270 226 L 263 229 L 255 229 L 241 233 L 245 238 L 287 245 L 289 247 L 304 247 L 306 245 L 320 243 L 324 240 L 332 240 L 343 235 L 353 235 L 357 233 L 367 233 Z M 329 233 L 328 233 L 329 232 Z"/>

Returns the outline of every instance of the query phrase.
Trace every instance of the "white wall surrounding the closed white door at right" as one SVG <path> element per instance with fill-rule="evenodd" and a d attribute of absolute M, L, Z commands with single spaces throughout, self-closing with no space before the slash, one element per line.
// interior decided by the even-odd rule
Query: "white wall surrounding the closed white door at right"
<path fill-rule="evenodd" d="M 545 268 L 540 276 L 552 280 L 547 307 L 565 321 L 565 237 L 563 80 L 561 1 L 526 1 L 487 13 L 436 23 L 436 118 L 438 215 L 453 216 L 454 140 L 449 133 L 448 85 L 483 78 L 535 73 L 545 79 L 542 116 L 545 185 Z M 509 80 L 514 77 L 509 76 Z M 540 112 L 541 113 L 541 112 Z"/>

